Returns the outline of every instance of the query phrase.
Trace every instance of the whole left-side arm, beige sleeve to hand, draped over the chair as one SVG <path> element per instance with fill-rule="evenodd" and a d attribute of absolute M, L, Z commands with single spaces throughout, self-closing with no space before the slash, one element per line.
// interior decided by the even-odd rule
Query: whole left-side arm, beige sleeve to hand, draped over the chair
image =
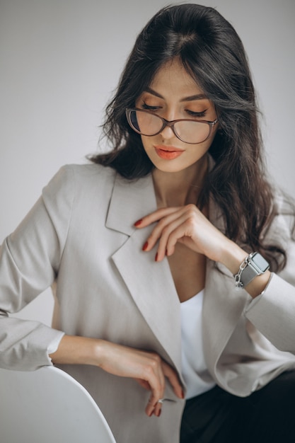
<path fill-rule="evenodd" d="M 64 335 L 35 321 L 10 318 L 49 287 L 59 271 L 74 202 L 71 168 L 63 168 L 1 247 L 0 365 L 33 370 L 47 364 L 91 364 L 136 379 L 151 391 L 146 413 L 159 415 L 166 379 L 183 398 L 176 372 L 153 352 Z"/>

